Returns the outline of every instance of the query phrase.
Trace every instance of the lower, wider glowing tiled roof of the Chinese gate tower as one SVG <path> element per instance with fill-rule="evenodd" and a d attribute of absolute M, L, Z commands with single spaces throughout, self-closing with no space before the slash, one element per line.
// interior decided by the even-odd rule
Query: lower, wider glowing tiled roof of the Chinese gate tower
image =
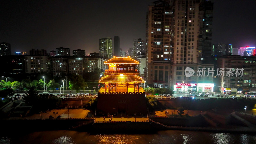
<path fill-rule="evenodd" d="M 118 83 L 118 82 L 133 82 L 133 83 L 144 83 L 144 80 L 140 76 L 104 76 L 101 77 L 99 83 Z"/>

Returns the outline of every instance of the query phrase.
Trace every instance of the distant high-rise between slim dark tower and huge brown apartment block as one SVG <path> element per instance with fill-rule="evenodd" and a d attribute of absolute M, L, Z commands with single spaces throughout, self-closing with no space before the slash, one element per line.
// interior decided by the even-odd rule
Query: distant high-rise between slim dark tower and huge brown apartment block
<path fill-rule="evenodd" d="M 133 42 L 133 58 L 136 59 L 141 55 L 145 55 L 145 40 L 141 38 L 134 40 Z"/>

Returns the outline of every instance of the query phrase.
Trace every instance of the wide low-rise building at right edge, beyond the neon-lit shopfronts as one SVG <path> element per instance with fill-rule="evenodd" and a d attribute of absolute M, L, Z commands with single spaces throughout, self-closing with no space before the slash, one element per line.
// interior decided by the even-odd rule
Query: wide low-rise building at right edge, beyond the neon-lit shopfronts
<path fill-rule="evenodd" d="M 224 55 L 217 58 L 220 76 L 217 82 L 222 88 L 237 88 L 238 91 L 256 91 L 256 56 Z"/>

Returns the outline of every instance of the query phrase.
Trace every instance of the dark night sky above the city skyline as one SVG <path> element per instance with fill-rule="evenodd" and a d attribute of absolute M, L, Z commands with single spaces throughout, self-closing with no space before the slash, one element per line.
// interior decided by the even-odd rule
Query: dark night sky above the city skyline
<path fill-rule="evenodd" d="M 99 39 L 120 37 L 127 51 L 145 39 L 148 4 L 155 0 L 2 0 L 0 42 L 14 52 L 57 47 L 99 52 Z M 256 0 L 212 0 L 212 43 L 256 46 Z"/>

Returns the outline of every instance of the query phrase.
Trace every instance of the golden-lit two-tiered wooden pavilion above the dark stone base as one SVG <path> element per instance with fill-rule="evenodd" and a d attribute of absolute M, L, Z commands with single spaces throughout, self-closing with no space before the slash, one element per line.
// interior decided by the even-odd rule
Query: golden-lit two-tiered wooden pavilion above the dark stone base
<path fill-rule="evenodd" d="M 100 92 L 144 92 L 139 87 L 140 83 L 144 83 L 144 80 L 138 76 L 138 71 L 135 69 L 139 61 L 133 60 L 128 57 L 113 57 L 110 60 L 104 62 L 108 65 L 108 70 L 105 70 L 99 83 L 104 84 L 104 88 L 100 89 Z"/>

